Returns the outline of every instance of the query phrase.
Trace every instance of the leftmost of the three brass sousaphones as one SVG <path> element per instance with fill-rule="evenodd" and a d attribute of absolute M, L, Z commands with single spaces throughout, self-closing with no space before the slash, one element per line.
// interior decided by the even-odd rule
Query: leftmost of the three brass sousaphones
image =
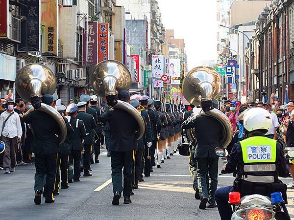
<path fill-rule="evenodd" d="M 17 93 L 25 100 L 32 97 L 42 97 L 44 94 L 53 94 L 56 88 L 56 78 L 52 70 L 43 64 L 29 64 L 20 69 L 16 76 L 15 86 Z M 60 128 L 58 143 L 64 142 L 67 130 L 62 116 L 53 107 L 41 103 L 41 107 L 36 109 L 48 113 L 56 120 Z"/>

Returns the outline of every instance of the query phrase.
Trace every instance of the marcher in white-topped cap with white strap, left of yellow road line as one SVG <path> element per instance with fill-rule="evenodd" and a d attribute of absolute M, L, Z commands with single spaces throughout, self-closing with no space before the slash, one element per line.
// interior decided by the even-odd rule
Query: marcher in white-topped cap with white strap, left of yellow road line
<path fill-rule="evenodd" d="M 79 182 L 81 176 L 80 162 L 83 150 L 82 140 L 86 137 L 86 129 L 84 122 L 77 119 L 77 105 L 70 104 L 66 108 L 66 112 L 70 115 L 70 124 L 73 132 L 69 135 L 71 154 L 69 158 L 69 182 Z"/>

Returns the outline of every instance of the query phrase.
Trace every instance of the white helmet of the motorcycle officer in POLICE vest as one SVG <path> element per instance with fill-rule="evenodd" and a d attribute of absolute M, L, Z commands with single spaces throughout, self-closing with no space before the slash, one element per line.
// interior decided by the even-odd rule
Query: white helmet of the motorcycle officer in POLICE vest
<path fill-rule="evenodd" d="M 271 126 L 271 114 L 262 108 L 252 108 L 244 115 L 244 128 L 248 132 L 263 129 L 269 131 Z"/>

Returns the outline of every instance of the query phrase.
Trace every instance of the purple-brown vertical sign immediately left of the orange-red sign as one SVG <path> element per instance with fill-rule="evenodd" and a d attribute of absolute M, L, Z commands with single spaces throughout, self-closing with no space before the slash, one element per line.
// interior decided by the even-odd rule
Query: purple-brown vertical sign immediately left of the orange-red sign
<path fill-rule="evenodd" d="M 98 64 L 98 22 L 86 22 L 85 25 L 87 23 L 88 32 L 85 32 L 83 36 L 83 44 L 88 46 L 87 50 L 83 50 L 83 66 L 96 66 Z"/>

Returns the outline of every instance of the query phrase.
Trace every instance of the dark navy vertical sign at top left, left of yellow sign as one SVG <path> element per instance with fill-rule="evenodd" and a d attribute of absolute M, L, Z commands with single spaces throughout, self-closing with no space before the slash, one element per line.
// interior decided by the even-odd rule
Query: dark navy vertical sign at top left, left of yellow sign
<path fill-rule="evenodd" d="M 40 0 L 25 0 L 27 7 L 22 8 L 26 20 L 22 22 L 21 43 L 18 51 L 40 51 Z"/>

